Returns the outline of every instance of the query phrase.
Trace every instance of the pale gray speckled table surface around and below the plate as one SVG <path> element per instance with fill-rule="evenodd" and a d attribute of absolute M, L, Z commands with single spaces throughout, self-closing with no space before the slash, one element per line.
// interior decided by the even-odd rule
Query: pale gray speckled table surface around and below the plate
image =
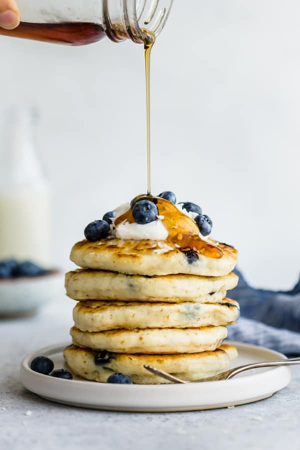
<path fill-rule="evenodd" d="M 19 381 L 22 357 L 68 340 L 72 300 L 61 298 L 37 315 L 0 319 L 0 448 L 300 449 L 300 368 L 290 384 L 256 403 L 196 412 L 124 413 L 48 402 Z M 31 411 L 31 415 L 26 415 Z"/>

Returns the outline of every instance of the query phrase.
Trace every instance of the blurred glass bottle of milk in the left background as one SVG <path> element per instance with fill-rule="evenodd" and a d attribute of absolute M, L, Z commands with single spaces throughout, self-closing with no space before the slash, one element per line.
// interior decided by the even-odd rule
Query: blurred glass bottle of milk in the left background
<path fill-rule="evenodd" d="M 50 197 L 33 140 L 33 112 L 9 115 L 0 146 L 0 260 L 49 264 Z"/>

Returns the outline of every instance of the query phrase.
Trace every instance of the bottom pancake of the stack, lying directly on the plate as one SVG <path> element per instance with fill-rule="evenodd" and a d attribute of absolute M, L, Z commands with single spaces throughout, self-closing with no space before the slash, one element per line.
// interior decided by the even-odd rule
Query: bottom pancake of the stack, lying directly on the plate
<path fill-rule="evenodd" d="M 179 378 L 196 381 L 213 376 L 228 368 L 229 361 L 237 356 L 236 348 L 221 345 L 214 351 L 190 354 L 119 354 L 107 351 L 96 351 L 72 345 L 64 350 L 65 360 L 70 369 L 77 375 L 106 382 L 108 376 L 115 372 L 128 375 L 133 383 L 160 384 L 168 383 L 155 375 L 151 375 L 143 364 L 172 373 Z"/>

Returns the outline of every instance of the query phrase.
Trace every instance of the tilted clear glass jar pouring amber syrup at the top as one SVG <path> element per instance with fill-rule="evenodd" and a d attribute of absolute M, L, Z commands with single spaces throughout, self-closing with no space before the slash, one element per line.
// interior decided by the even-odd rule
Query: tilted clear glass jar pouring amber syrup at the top
<path fill-rule="evenodd" d="M 85 45 L 105 35 L 114 42 L 144 42 L 142 29 L 156 36 L 172 0 L 18 0 L 21 22 L 0 34 L 68 45 Z"/>

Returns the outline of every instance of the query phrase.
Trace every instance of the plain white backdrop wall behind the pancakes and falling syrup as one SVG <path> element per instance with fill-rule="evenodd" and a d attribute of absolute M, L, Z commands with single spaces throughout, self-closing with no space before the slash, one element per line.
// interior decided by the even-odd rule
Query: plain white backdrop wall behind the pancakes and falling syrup
<path fill-rule="evenodd" d="M 274 288 L 300 272 L 299 20 L 296 0 L 175 0 L 152 53 L 152 192 L 198 202 Z M 84 226 L 145 190 L 142 46 L 0 36 L 0 61 L 0 112 L 41 110 L 52 259 L 68 267 Z"/>

